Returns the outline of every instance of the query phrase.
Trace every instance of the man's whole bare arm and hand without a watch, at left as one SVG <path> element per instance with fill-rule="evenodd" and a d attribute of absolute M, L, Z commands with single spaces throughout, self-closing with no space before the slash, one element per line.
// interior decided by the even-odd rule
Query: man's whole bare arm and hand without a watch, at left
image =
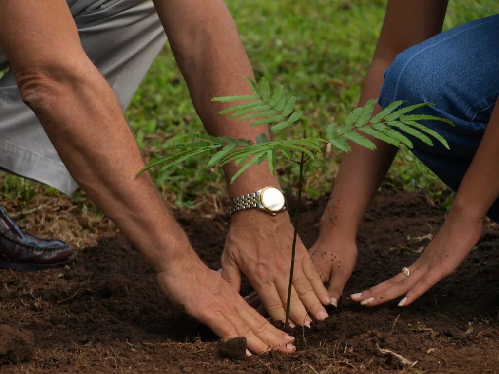
<path fill-rule="evenodd" d="M 114 92 L 84 53 L 65 0 L 0 0 L 0 47 L 26 104 L 89 197 L 153 262 L 163 290 L 223 338 L 255 352 L 292 338 L 196 256 L 151 178 Z"/>

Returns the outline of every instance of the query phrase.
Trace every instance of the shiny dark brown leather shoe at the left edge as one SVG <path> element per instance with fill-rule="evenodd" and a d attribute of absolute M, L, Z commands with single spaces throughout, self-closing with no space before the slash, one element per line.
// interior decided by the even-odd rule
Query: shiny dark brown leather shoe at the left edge
<path fill-rule="evenodd" d="M 71 247 L 60 240 L 46 240 L 21 231 L 0 206 L 0 268 L 43 270 L 71 261 Z"/>

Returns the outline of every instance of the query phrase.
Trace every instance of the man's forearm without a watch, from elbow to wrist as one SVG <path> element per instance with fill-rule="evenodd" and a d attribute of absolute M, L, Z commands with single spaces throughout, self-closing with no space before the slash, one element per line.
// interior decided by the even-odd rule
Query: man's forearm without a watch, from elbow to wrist
<path fill-rule="evenodd" d="M 52 95 L 25 96 L 68 171 L 154 265 L 166 269 L 165 261 L 181 255 L 188 240 L 149 175 L 136 178 L 144 164 L 114 92 L 91 66 L 70 84 L 54 86 Z"/>

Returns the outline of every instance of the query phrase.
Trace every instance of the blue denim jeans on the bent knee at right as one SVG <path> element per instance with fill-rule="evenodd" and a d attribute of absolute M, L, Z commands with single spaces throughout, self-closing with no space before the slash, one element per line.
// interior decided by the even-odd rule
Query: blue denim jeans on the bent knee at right
<path fill-rule="evenodd" d="M 456 124 L 424 123 L 446 138 L 450 150 L 437 142 L 428 146 L 411 138 L 412 152 L 456 191 L 482 140 L 498 94 L 496 14 L 447 30 L 400 53 L 385 72 L 379 102 L 382 107 L 396 100 L 408 105 L 433 102 L 435 106 L 414 113 L 448 118 Z M 499 199 L 489 217 L 499 222 Z"/>

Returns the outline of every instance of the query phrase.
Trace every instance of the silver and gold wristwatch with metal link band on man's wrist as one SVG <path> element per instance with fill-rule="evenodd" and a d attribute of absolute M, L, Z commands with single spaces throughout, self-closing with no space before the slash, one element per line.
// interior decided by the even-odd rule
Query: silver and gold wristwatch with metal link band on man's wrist
<path fill-rule="evenodd" d="M 279 188 L 268 186 L 256 192 L 238 196 L 231 203 L 232 214 L 239 210 L 252 208 L 275 215 L 286 209 L 284 193 Z"/>

